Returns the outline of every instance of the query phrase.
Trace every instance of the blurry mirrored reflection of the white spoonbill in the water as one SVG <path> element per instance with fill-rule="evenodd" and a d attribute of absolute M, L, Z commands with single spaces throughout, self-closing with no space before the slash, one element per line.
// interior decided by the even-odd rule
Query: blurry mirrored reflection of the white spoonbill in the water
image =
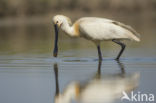
<path fill-rule="evenodd" d="M 125 74 L 124 66 L 118 62 L 121 73 L 101 75 L 101 62 L 98 64 L 96 76 L 81 86 L 80 82 L 70 83 L 63 93 L 59 93 L 58 68 L 54 65 L 56 76 L 55 103 L 70 103 L 76 100 L 80 103 L 111 103 L 122 96 L 122 92 L 130 92 L 138 86 L 139 74 Z"/>

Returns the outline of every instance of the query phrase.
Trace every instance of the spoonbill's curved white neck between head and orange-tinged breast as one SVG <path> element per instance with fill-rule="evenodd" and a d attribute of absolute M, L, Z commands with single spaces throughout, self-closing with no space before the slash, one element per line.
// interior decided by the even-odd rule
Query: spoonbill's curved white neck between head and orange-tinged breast
<path fill-rule="evenodd" d="M 77 37 L 77 33 L 75 32 L 74 25 L 70 26 L 68 22 L 62 24 L 61 29 L 71 37 Z"/>

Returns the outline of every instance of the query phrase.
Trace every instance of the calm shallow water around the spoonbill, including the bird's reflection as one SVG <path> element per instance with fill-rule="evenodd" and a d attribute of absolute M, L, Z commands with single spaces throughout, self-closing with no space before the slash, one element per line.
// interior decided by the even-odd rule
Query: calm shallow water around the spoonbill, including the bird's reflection
<path fill-rule="evenodd" d="M 62 33 L 53 58 L 51 24 L 1 27 L 0 103 L 136 102 L 121 101 L 123 91 L 156 96 L 155 26 L 138 27 L 142 41 L 126 42 L 119 62 L 114 58 L 120 47 L 102 43 L 101 65 L 94 44 Z"/>

